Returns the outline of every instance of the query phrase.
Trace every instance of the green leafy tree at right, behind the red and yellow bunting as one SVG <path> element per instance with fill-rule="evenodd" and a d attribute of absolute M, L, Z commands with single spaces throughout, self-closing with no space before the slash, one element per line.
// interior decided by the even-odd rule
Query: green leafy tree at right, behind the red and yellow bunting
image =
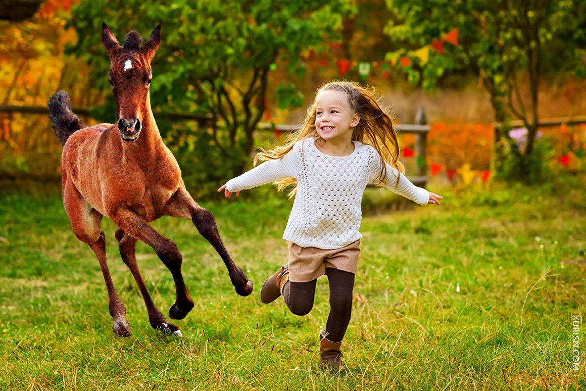
<path fill-rule="evenodd" d="M 409 79 L 432 89 L 447 73 L 479 77 L 490 94 L 495 121 L 503 123 L 512 115 L 523 121 L 528 133 L 525 147 L 519 148 L 506 127 L 495 127 L 495 168 L 512 168 L 510 178 L 539 177 L 539 151 L 534 148 L 539 89 L 552 76 L 586 74 L 586 1 L 387 0 L 387 6 L 396 18 L 386 33 L 403 45 L 389 53 L 391 57 L 458 29 L 458 45 L 444 45 L 443 54 L 407 67 Z M 529 102 L 519 88 L 519 77 L 524 75 L 529 77 Z M 510 164 L 502 165 L 507 159 Z"/>

